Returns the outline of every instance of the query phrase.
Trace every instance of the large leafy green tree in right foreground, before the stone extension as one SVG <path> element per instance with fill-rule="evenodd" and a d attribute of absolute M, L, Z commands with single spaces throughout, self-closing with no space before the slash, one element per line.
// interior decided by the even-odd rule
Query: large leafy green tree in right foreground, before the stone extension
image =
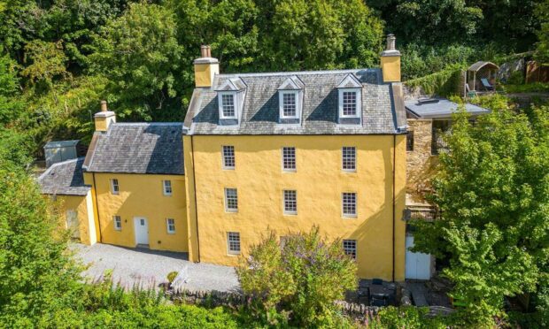
<path fill-rule="evenodd" d="M 414 249 L 449 260 L 452 296 L 476 323 L 505 296 L 536 291 L 549 264 L 549 111 L 490 102 L 475 125 L 465 112 L 454 118 L 430 196 L 442 218 L 414 223 Z"/>

